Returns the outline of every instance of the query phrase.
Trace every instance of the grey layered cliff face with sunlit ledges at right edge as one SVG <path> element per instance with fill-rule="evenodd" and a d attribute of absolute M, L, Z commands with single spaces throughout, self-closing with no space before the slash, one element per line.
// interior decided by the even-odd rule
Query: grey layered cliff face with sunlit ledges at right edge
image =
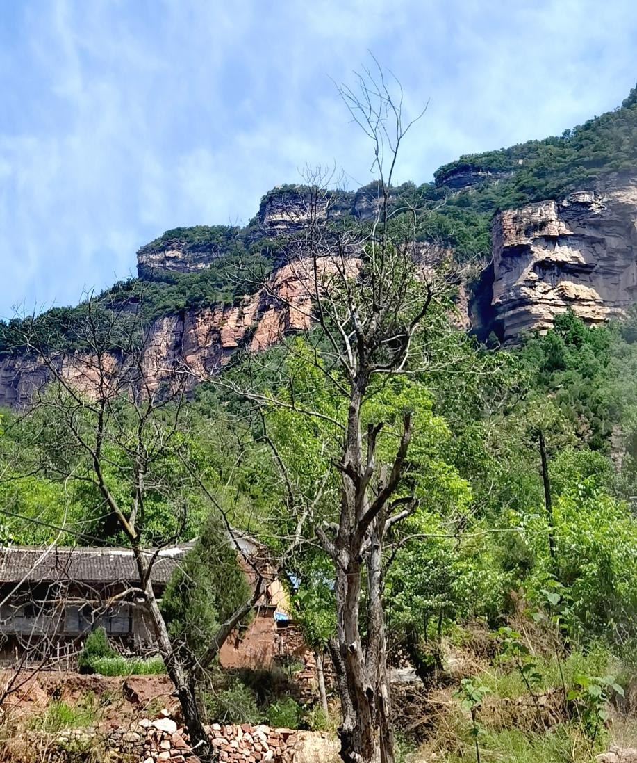
<path fill-rule="evenodd" d="M 637 300 L 637 175 L 498 214 L 493 301 L 504 340 L 571 307 L 600 323 Z"/>

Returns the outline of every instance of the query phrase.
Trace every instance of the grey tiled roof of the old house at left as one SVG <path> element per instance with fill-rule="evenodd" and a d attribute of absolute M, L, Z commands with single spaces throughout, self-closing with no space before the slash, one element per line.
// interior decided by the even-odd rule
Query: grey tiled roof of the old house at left
<path fill-rule="evenodd" d="M 167 583 L 187 547 L 161 549 L 152 566 L 152 581 Z M 149 560 L 153 552 L 149 552 Z M 131 583 L 137 566 L 130 549 L 77 546 L 0 547 L 0 583 L 18 581 L 72 581 L 77 583 Z"/>

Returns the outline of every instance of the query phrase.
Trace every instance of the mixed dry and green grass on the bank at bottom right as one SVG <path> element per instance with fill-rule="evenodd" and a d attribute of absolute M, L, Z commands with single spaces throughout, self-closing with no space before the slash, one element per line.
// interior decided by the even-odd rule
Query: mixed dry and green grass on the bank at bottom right
<path fill-rule="evenodd" d="M 558 658 L 548 651 L 546 640 L 536 638 L 528 643 L 531 654 L 527 659 L 539 674 L 533 685 L 537 702 L 512 658 L 477 660 L 475 676 L 488 687 L 488 694 L 476 708 L 476 726 L 453 696 L 453 687 L 443 689 L 443 701 L 431 716 L 431 736 L 420 751 L 424 759 L 436 755 L 440 763 L 473 763 L 477 759 L 475 728 L 481 763 L 594 763 L 595 755 L 607 750 L 611 742 L 622 746 L 627 740 L 632 742 L 637 723 L 618 717 L 610 728 L 601 724 L 591 739 L 563 701 L 562 684 L 572 687 L 577 676 L 621 673 L 607 648 L 589 645 Z"/>

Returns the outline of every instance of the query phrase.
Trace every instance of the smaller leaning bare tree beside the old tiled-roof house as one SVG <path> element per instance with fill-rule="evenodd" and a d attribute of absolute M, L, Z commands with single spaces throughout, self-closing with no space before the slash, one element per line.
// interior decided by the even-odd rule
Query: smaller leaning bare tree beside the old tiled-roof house
<path fill-rule="evenodd" d="M 190 744 L 207 763 L 214 755 L 197 703 L 197 681 L 261 597 L 264 578 L 261 568 L 249 560 L 254 587 L 221 623 L 203 656 L 195 659 L 171 638 L 152 569 L 160 549 L 178 542 L 189 520 L 191 497 L 205 485 L 188 450 L 192 424 L 185 396 L 190 376 L 178 365 L 158 365 L 161 353 L 155 352 L 152 324 L 142 312 L 140 298 L 104 305 L 89 297 L 74 333 L 63 342 L 59 336 L 43 335 L 37 320 L 22 321 L 27 353 L 43 367 L 43 384 L 34 389 L 22 414 L 37 462 L 22 468 L 83 486 L 87 502 L 94 501 L 101 514 L 87 521 L 97 521 L 111 538 L 131 549 L 138 578 L 132 593 L 146 610 L 155 649 L 181 704 Z M 168 507 L 161 530 L 152 525 L 153 501 Z M 215 508 L 221 510 L 219 504 Z"/>

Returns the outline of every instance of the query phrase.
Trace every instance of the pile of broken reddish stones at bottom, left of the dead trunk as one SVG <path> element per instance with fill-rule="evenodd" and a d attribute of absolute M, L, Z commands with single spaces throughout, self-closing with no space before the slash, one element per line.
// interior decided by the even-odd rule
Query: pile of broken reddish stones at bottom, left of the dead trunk
<path fill-rule="evenodd" d="M 139 729 L 145 756 L 142 757 L 143 763 L 199 763 L 190 748 L 187 730 L 178 726 L 168 714 L 155 720 L 140 720 Z M 249 723 L 241 726 L 213 723 L 206 726 L 206 731 L 219 752 L 219 760 L 224 763 L 293 763 L 296 732 L 292 729 L 271 729 L 270 726 L 251 726 Z"/>

